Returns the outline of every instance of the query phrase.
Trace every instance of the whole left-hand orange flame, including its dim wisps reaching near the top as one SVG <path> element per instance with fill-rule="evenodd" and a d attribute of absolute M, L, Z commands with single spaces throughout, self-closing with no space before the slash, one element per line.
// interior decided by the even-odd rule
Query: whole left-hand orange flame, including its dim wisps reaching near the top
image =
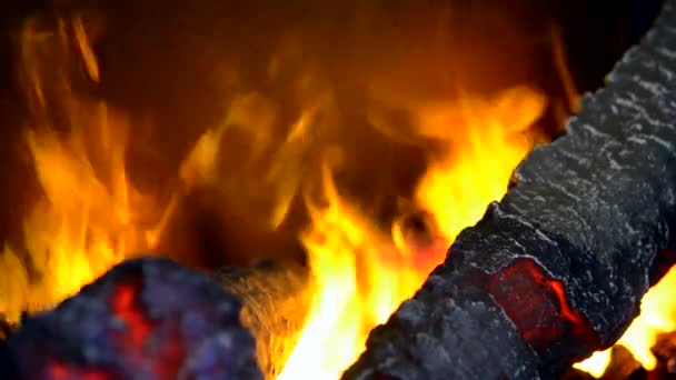
<path fill-rule="evenodd" d="M 59 21 L 53 33 L 31 20 L 21 33 L 33 117 L 26 144 L 41 196 L 24 218 L 23 249 L 6 243 L 0 253 L 0 314 L 10 321 L 53 306 L 127 252 L 149 248 L 135 213 L 146 201 L 125 168 L 128 122 L 105 102 L 76 94 L 66 53 L 73 41 L 96 82 L 98 66 L 79 18 Z"/>

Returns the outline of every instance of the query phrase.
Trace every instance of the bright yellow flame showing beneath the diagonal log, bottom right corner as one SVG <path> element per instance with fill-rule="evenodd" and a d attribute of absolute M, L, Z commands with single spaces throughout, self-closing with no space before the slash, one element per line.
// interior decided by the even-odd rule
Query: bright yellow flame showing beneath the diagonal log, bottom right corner
<path fill-rule="evenodd" d="M 616 344 L 624 346 L 648 371 L 655 369 L 657 361 L 650 348 L 657 336 L 676 330 L 676 267 L 643 297 L 640 314 L 632 322 Z M 595 352 L 590 358 L 574 364 L 595 378 L 600 378 L 610 362 L 610 349 Z"/>

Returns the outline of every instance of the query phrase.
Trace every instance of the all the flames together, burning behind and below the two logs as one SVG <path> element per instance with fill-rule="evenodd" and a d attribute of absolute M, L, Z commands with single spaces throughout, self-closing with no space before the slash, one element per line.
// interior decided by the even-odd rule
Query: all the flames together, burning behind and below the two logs
<path fill-rule="evenodd" d="M 336 123 L 330 89 L 308 72 L 299 98 L 312 101 L 304 104 L 281 144 L 270 147 L 268 133 L 279 121 L 277 106 L 255 91 L 233 97 L 222 126 L 202 134 L 183 160 L 178 173 L 183 188 L 160 213 L 128 179 L 129 120 L 73 88 L 73 66 L 83 68 L 88 83 L 96 84 L 100 76 L 81 20 L 60 21 L 53 33 L 38 29 L 29 22 L 21 34 L 21 63 L 33 117 L 26 144 L 42 194 L 24 220 L 24 249 L 8 243 L 0 254 L 0 313 L 17 320 L 22 311 L 49 308 L 129 252 L 152 249 L 181 191 L 223 183 L 217 166 L 220 143 L 226 128 L 241 128 L 251 134 L 254 149 L 241 173 L 227 174 L 228 186 L 251 181 L 265 188 L 262 197 L 242 198 L 269 206 L 265 224 L 271 230 L 291 212 L 298 193 L 309 213 L 299 239 L 311 272 L 310 310 L 299 334 L 285 342 L 284 357 L 272 358 L 280 380 L 339 378 L 364 351 L 369 331 L 419 289 L 455 237 L 504 196 L 514 168 L 545 139 L 534 126 L 547 99 L 528 86 L 491 96 L 459 91 L 447 101 L 386 99 L 398 102 L 416 137 L 434 140 L 436 149 L 410 201 L 422 231 L 410 231 L 409 216 L 384 226 L 340 191 L 335 151 L 327 149 L 319 174 L 307 162 L 309 148 L 320 144 L 318 130 Z M 261 164 L 268 156 L 274 163 Z M 320 191 L 310 191 L 317 181 Z M 669 297 L 675 284 L 672 270 L 644 298 L 642 317 L 619 341 L 646 368 L 655 366 L 649 352 L 655 336 L 676 329 L 676 301 Z M 667 314 L 672 318 L 659 318 Z M 604 352 L 577 366 L 598 374 L 607 360 Z"/>

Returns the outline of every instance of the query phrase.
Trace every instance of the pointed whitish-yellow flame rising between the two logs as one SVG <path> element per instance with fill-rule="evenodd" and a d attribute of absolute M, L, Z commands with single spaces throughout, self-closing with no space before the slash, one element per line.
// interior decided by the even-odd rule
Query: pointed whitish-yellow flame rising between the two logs
<path fill-rule="evenodd" d="M 368 331 L 426 277 L 345 202 L 328 169 L 324 188 L 328 206 L 308 202 L 312 223 L 301 237 L 314 276 L 310 314 L 278 379 L 337 378 L 362 351 Z"/>

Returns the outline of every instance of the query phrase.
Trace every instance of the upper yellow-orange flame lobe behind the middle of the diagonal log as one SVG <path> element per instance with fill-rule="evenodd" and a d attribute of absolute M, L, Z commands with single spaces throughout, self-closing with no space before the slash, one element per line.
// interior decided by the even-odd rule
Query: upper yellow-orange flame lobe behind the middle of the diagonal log
<path fill-rule="evenodd" d="M 541 93 L 517 87 L 491 99 L 466 94 L 459 104 L 427 107 L 420 113 L 420 130 L 444 138 L 447 149 L 422 178 L 417 198 L 448 241 L 505 194 L 514 169 L 537 142 L 537 134 L 525 131 L 545 106 Z"/>

